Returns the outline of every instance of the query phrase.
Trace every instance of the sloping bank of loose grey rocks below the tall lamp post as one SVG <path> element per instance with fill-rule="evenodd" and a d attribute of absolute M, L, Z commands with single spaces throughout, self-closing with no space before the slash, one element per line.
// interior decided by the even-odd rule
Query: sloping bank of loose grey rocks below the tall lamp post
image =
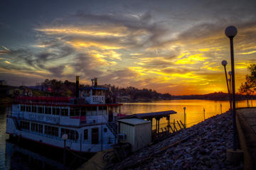
<path fill-rule="evenodd" d="M 155 145 L 145 147 L 109 169 L 242 169 L 226 160 L 233 147 L 230 112 L 215 115 Z"/>

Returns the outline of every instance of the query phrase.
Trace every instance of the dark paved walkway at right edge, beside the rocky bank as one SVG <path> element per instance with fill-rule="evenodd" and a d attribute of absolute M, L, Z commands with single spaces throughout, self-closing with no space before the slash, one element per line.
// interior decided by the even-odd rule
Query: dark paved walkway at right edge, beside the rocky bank
<path fill-rule="evenodd" d="M 238 108 L 236 117 L 244 169 L 256 169 L 256 108 Z"/>

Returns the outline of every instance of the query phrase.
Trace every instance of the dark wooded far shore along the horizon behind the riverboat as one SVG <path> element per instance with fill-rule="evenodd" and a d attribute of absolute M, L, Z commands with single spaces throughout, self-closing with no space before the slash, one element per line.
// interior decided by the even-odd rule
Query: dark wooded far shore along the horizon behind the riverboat
<path fill-rule="evenodd" d="M 85 84 L 80 84 L 80 88 L 84 86 L 90 86 Z M 107 98 L 110 98 L 110 101 L 154 101 L 154 100 L 172 100 L 172 99 L 202 99 L 202 100 L 215 100 L 215 101 L 224 101 L 229 100 L 229 96 L 226 93 L 218 92 L 212 94 L 203 94 L 203 95 L 186 95 L 186 96 L 172 96 L 171 94 L 161 94 L 156 92 L 153 89 L 137 89 L 132 86 L 127 88 L 122 88 L 119 86 L 112 86 L 111 84 L 105 84 L 107 87 Z M 10 89 L 33 89 L 33 96 L 75 96 L 75 82 L 68 80 L 58 81 L 56 79 L 49 80 L 46 79 L 38 86 L 20 86 L 20 87 L 11 87 L 11 86 L 0 86 L 0 91 L 2 97 L 6 96 L 6 91 Z M 10 96 L 10 95 L 7 95 Z M 13 95 L 12 95 L 13 96 Z M 106 98 L 106 99 L 107 99 Z M 252 99 L 255 96 L 246 96 L 242 94 L 237 94 L 237 100 L 243 99 Z"/>

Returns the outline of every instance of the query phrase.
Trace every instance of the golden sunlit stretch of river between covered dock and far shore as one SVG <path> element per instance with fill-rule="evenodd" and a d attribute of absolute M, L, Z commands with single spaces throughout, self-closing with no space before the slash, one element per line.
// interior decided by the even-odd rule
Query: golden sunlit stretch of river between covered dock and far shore
<path fill-rule="evenodd" d="M 250 106 L 256 106 L 256 101 L 249 101 Z M 238 101 L 238 108 L 247 107 L 247 101 Z M 230 108 L 229 101 L 209 101 L 209 100 L 171 100 L 171 101 L 152 101 L 149 103 L 124 103 L 121 108 L 122 113 L 150 113 L 159 111 L 176 111 L 177 114 L 171 115 L 170 121 L 181 120 L 184 122 L 184 110 L 186 107 L 186 124 L 187 128 L 196 125 L 204 120 L 203 108 L 205 109 L 205 118 L 213 115 L 225 113 Z M 153 130 L 156 121 L 153 120 Z M 166 118 L 160 120 L 160 128 L 167 125 Z"/>

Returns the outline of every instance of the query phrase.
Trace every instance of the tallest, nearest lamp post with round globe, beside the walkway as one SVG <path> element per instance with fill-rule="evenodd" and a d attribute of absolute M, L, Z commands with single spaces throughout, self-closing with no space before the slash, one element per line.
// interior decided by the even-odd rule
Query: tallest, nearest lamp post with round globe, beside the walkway
<path fill-rule="evenodd" d="M 225 28 L 225 35 L 230 39 L 230 56 L 231 56 L 231 72 L 232 72 L 232 101 L 233 101 L 233 150 L 236 150 L 236 123 L 235 123 L 235 64 L 234 64 L 234 50 L 233 38 L 237 35 L 238 30 L 234 26 Z"/>

